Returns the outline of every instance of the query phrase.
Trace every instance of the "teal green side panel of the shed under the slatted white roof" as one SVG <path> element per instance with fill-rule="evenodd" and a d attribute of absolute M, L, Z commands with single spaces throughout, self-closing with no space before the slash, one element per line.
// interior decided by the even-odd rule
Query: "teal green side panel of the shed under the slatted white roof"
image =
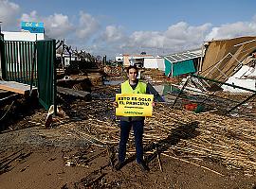
<path fill-rule="evenodd" d="M 184 61 L 176 62 L 174 63 L 173 69 L 174 69 L 174 74 L 173 74 L 174 77 L 195 72 L 195 68 L 192 60 L 184 60 Z"/>

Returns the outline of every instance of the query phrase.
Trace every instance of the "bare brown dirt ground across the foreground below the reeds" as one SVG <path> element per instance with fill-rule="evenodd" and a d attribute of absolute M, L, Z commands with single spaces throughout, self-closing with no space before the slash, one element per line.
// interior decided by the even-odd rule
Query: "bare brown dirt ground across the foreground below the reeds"
<path fill-rule="evenodd" d="M 161 156 L 163 172 L 159 170 L 156 159 L 149 163 L 149 173 L 143 173 L 135 162 L 128 163 L 120 171 L 115 171 L 101 147 L 22 145 L 4 150 L 1 153 L 1 160 L 17 150 L 20 150 L 23 156 L 12 161 L 7 172 L 1 174 L 0 188 L 252 189 L 255 188 L 256 182 L 255 176 L 246 177 L 239 171 L 229 170 L 217 163 L 192 164 L 164 156 Z M 73 157 L 78 151 L 82 152 L 84 157 L 96 155 L 96 158 L 79 166 L 67 165 L 65 157 Z M 98 154 L 100 156 L 97 157 Z M 97 178 L 100 179 L 96 180 Z"/>

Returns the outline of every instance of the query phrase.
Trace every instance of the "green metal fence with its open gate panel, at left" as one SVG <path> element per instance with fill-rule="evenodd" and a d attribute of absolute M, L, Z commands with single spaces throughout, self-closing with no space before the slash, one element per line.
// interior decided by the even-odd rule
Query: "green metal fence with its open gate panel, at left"
<path fill-rule="evenodd" d="M 2 77 L 38 87 L 39 101 L 54 104 L 55 40 L 20 42 L 0 40 Z"/>

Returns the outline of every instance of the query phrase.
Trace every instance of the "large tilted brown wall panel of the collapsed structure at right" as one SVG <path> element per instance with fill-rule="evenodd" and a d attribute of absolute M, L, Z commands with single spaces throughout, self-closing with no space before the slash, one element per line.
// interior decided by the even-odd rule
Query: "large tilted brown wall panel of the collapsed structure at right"
<path fill-rule="evenodd" d="M 242 61 L 255 50 L 255 37 L 212 41 L 207 46 L 199 75 L 225 82 L 242 67 Z"/>

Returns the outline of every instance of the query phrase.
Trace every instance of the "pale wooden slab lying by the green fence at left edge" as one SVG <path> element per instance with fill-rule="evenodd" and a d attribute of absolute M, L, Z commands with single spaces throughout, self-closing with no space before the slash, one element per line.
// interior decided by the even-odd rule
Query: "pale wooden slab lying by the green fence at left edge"
<path fill-rule="evenodd" d="M 0 89 L 17 94 L 27 95 L 30 93 L 30 85 L 19 83 L 16 81 L 4 81 L 0 80 Z M 37 88 L 33 87 L 32 92 L 36 91 Z"/>

